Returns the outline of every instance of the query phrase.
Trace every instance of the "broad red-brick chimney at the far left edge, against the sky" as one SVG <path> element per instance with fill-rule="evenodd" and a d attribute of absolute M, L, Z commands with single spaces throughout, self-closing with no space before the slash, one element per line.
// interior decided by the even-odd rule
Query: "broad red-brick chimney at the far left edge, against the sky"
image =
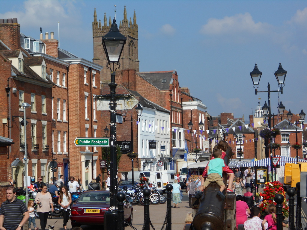
<path fill-rule="evenodd" d="M 17 18 L 0 19 L 0 40 L 11 50 L 20 49 L 20 25 Z"/>

